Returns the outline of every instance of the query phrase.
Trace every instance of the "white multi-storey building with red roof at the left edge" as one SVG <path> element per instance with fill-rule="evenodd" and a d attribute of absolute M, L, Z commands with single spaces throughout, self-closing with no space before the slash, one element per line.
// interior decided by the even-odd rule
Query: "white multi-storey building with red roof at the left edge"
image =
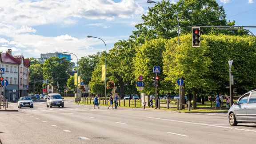
<path fill-rule="evenodd" d="M 0 54 L 0 66 L 4 69 L 4 80 L 8 81 L 8 85 L 0 88 L 2 95 L 8 100 L 17 100 L 21 96 L 28 96 L 28 76 L 29 76 L 29 60 L 25 60 L 24 56 L 12 56 L 12 50 Z"/>

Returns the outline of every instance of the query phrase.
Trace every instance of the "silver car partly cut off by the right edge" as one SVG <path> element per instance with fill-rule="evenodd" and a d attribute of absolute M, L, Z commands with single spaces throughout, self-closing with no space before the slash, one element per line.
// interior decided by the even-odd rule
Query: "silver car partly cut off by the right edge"
<path fill-rule="evenodd" d="M 228 110 L 230 125 L 256 123 L 256 90 L 245 93 Z"/>

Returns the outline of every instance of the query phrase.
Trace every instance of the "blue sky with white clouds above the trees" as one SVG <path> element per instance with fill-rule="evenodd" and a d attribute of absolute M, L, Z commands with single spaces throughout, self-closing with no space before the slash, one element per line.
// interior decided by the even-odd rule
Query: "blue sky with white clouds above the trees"
<path fill-rule="evenodd" d="M 1 0 L 0 51 L 40 58 L 41 53 L 71 52 L 78 59 L 113 48 L 127 40 L 147 0 Z M 161 2 L 162 0 L 155 0 Z M 170 0 L 176 3 L 178 0 Z M 237 26 L 256 26 L 256 0 L 216 0 L 227 20 Z M 247 28 L 256 35 L 256 28 Z M 87 36 L 99 37 L 87 38 Z M 72 62 L 76 57 L 72 55 Z"/>

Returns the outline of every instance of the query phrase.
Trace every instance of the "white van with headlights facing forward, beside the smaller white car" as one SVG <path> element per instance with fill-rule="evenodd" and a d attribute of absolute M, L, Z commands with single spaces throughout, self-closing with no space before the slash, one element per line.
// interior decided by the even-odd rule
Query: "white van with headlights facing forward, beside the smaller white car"
<path fill-rule="evenodd" d="M 50 93 L 48 94 L 47 101 L 46 101 L 46 107 L 52 108 L 52 106 L 57 106 L 60 108 L 64 108 L 64 101 L 63 97 L 59 93 Z"/>

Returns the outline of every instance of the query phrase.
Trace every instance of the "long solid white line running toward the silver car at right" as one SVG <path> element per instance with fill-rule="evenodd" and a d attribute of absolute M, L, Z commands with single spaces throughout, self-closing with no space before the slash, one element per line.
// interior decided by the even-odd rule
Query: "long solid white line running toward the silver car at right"
<path fill-rule="evenodd" d="M 247 131 L 247 132 L 256 132 L 256 131 L 251 130 L 251 129 L 242 129 L 242 128 L 234 128 L 234 127 L 225 127 L 225 126 L 214 125 L 214 124 L 193 123 L 193 122 L 187 122 L 187 121 L 161 119 L 161 118 L 148 117 L 148 116 L 145 116 L 144 118 L 155 119 L 155 120 L 173 121 L 173 122 L 185 123 L 185 124 L 197 124 L 197 125 L 204 125 L 204 126 L 217 127 L 217 128 L 227 128 L 227 129 L 234 129 L 234 130 Z"/>

